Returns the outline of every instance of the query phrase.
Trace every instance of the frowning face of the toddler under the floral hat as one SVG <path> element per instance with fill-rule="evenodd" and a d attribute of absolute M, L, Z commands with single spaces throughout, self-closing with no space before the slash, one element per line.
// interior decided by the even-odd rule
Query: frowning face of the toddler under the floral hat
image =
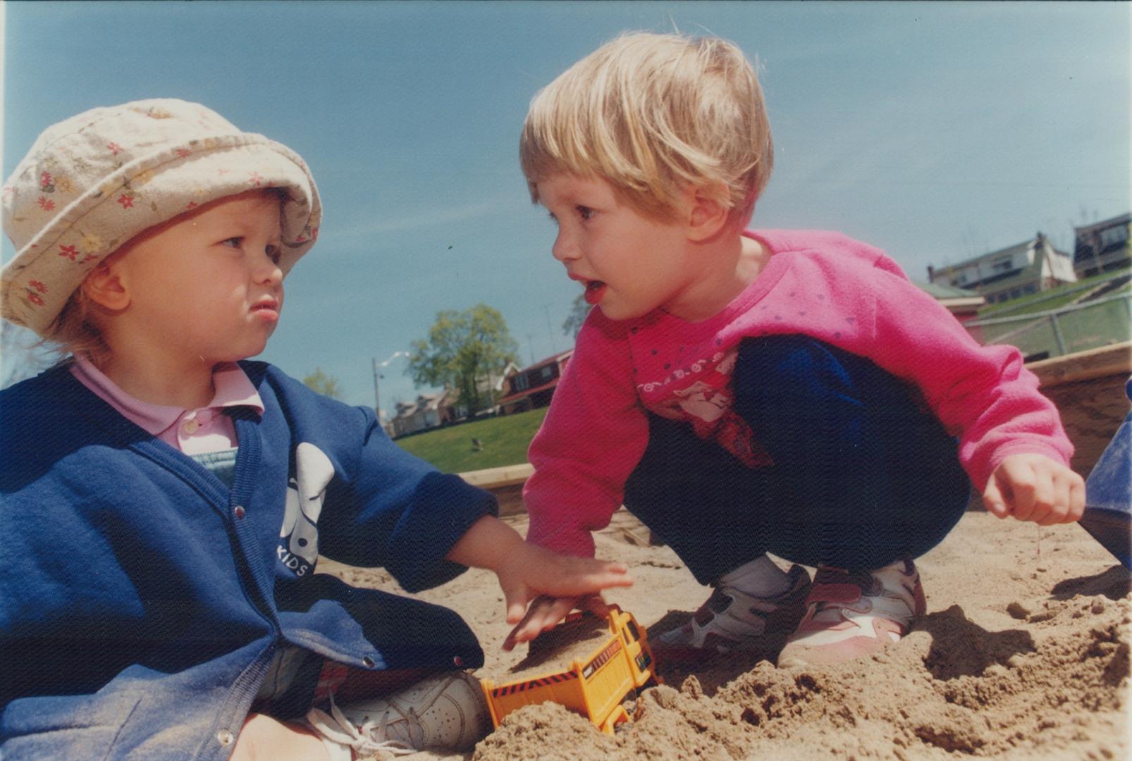
<path fill-rule="evenodd" d="M 259 353 L 283 308 L 278 198 L 252 191 L 203 208 L 109 265 L 128 297 L 113 335 L 170 367 Z"/>

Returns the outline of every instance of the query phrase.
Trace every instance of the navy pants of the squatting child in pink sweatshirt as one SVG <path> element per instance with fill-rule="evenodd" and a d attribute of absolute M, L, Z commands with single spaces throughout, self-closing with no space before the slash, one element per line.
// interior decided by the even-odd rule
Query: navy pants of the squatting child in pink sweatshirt
<path fill-rule="evenodd" d="M 806 336 L 747 339 L 731 387 L 772 467 L 748 469 L 687 424 L 650 416 L 625 485 L 626 508 L 701 583 L 767 551 L 878 568 L 923 555 L 963 515 L 957 441 L 869 360 Z"/>

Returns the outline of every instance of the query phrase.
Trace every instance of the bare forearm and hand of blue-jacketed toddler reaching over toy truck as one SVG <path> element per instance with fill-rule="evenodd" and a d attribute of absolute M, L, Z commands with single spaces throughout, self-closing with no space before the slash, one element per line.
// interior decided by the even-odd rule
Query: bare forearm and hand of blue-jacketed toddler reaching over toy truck
<path fill-rule="evenodd" d="M 524 541 L 517 531 L 490 515 L 473 523 L 448 550 L 447 558 L 495 571 L 506 601 L 508 624 L 518 624 L 528 604 L 535 598 L 560 598 L 560 605 L 569 602 L 558 616 L 561 618 L 569 613 L 575 598 L 591 598 L 602 589 L 633 584 L 624 563 L 559 555 Z M 514 647 L 513 636 L 514 632 L 506 644 Z"/>

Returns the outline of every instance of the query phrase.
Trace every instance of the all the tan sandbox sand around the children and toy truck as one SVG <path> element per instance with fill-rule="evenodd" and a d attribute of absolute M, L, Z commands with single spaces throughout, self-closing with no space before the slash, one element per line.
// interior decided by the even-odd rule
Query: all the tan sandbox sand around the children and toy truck
<path fill-rule="evenodd" d="M 525 532 L 525 516 L 507 519 Z M 636 584 L 607 598 L 649 630 L 686 621 L 709 590 L 624 511 L 598 553 L 631 564 Z M 773 653 L 663 662 L 666 684 L 628 704 L 616 735 L 555 704 L 524 708 L 474 752 L 418 761 L 503 759 L 1125 759 L 1129 758 L 1130 574 L 1080 527 L 1039 529 L 968 513 L 919 559 L 928 614 L 882 655 L 838 667 L 779 670 Z M 321 562 L 346 581 L 388 590 L 383 571 Z M 497 682 L 531 665 L 507 653 L 503 597 L 470 571 L 421 598 L 460 612 Z M 771 660 L 766 660 L 765 657 Z M 534 670 L 564 668 L 554 656 Z"/>

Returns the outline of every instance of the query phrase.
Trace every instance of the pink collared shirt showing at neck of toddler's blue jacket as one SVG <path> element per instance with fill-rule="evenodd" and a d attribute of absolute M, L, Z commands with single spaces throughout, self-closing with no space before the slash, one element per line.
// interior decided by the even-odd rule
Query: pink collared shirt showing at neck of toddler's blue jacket
<path fill-rule="evenodd" d="M 220 452 L 237 446 L 235 427 L 232 418 L 224 414 L 224 408 L 250 407 L 258 414 L 264 413 L 259 393 L 235 362 L 216 366 L 213 371 L 216 394 L 206 407 L 195 410 L 134 399 L 86 357 L 76 356 L 71 375 L 127 420 L 185 454 Z"/>

